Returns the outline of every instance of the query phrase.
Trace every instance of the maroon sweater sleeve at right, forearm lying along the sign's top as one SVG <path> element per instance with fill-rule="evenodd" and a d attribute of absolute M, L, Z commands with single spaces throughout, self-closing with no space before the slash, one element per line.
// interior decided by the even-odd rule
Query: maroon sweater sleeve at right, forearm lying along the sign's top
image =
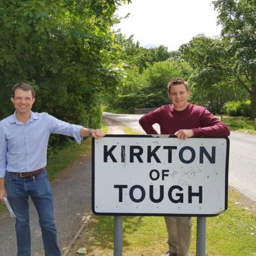
<path fill-rule="evenodd" d="M 224 124 L 224 122 L 218 118 L 215 118 L 207 109 L 204 109 L 200 114 L 200 122 L 201 127 L 192 129 L 194 136 L 219 137 L 229 136 L 231 134 L 231 131 Z"/>

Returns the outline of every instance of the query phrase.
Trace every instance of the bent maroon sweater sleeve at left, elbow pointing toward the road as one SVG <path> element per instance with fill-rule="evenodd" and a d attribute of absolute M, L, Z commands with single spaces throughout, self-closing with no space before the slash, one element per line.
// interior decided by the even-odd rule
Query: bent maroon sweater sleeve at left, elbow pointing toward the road
<path fill-rule="evenodd" d="M 156 129 L 153 128 L 153 125 L 158 123 L 159 116 L 159 109 L 155 109 L 142 116 L 142 118 L 140 118 L 140 126 L 142 127 L 142 129 L 144 129 L 146 134 L 158 134 Z"/>

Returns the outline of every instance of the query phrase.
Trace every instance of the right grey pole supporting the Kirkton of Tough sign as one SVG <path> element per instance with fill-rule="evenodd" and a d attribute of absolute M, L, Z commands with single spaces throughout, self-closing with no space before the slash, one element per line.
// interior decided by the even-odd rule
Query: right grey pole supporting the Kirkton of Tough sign
<path fill-rule="evenodd" d="M 206 244 L 206 217 L 198 217 L 196 256 L 205 256 L 205 244 Z"/>

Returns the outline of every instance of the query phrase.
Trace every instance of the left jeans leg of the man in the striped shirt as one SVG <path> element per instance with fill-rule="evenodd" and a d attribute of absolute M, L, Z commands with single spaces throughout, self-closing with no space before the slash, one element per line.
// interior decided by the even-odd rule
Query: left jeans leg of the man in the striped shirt
<path fill-rule="evenodd" d="M 6 173 L 6 192 L 10 206 L 16 215 L 16 237 L 18 256 L 31 255 L 30 222 L 28 193 L 25 191 L 24 178 Z"/>

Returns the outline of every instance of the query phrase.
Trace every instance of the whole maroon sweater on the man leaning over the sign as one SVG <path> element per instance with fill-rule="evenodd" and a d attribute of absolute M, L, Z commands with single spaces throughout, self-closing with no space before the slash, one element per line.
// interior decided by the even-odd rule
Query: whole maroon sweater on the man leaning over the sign
<path fill-rule="evenodd" d="M 229 136 L 230 130 L 215 118 L 205 107 L 189 104 L 186 109 L 176 111 L 173 105 L 158 107 L 139 120 L 147 134 L 158 134 L 152 125 L 160 125 L 161 134 L 175 134 L 179 129 L 192 129 L 197 137 Z"/>

